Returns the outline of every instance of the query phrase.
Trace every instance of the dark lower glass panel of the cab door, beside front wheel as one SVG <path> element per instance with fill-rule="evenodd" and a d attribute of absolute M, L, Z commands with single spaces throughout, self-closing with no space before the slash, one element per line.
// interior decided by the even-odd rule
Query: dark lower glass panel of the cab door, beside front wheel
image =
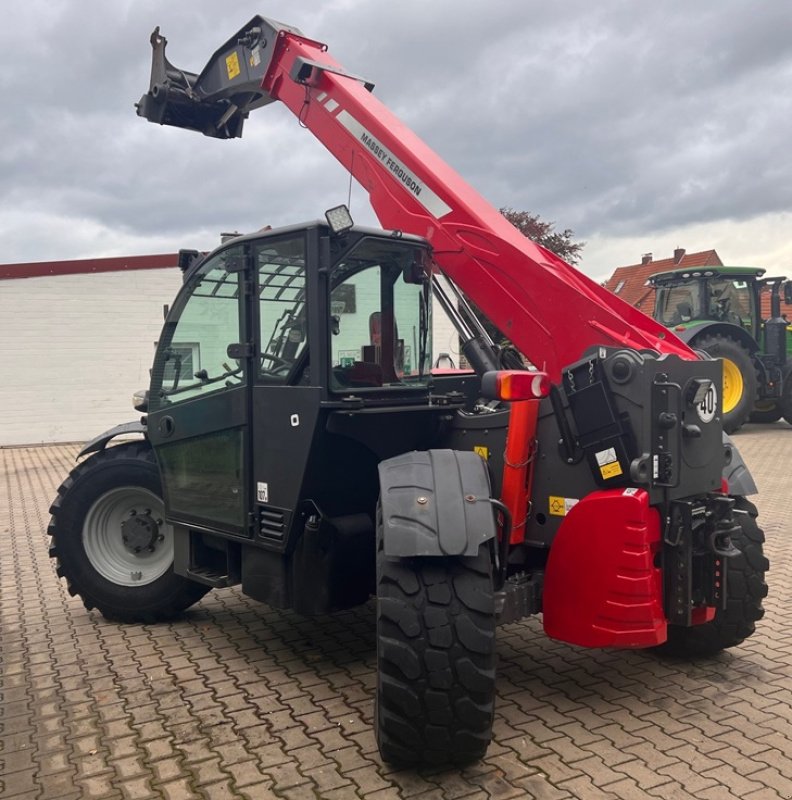
<path fill-rule="evenodd" d="M 159 447 L 172 513 L 244 529 L 242 437 L 234 428 Z"/>

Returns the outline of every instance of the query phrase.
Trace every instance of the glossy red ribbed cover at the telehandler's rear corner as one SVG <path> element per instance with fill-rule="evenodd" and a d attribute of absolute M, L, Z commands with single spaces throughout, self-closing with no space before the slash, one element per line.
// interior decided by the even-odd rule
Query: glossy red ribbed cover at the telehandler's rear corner
<path fill-rule="evenodd" d="M 553 540 L 543 592 L 548 636 L 583 647 L 652 647 L 667 638 L 660 515 L 643 489 L 592 492 Z"/>

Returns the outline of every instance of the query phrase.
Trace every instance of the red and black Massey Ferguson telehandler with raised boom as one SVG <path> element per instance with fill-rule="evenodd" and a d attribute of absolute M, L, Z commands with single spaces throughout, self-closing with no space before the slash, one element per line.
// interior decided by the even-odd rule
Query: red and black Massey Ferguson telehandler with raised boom
<path fill-rule="evenodd" d="M 385 229 L 339 206 L 182 253 L 145 417 L 89 443 L 51 508 L 88 609 L 374 595 L 376 735 L 406 764 L 484 754 L 498 623 L 541 613 L 558 640 L 691 656 L 754 632 L 768 563 L 719 361 L 526 239 L 295 28 L 254 17 L 199 74 L 151 43 L 140 116 L 233 139 L 279 101 Z M 431 373 L 433 297 L 469 374 Z"/>

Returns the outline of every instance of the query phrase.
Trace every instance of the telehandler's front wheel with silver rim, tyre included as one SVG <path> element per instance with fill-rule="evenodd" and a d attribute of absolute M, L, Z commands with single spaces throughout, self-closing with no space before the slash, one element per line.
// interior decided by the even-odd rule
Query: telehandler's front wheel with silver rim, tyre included
<path fill-rule="evenodd" d="M 118 622 L 170 619 L 207 586 L 173 573 L 173 529 L 146 442 L 102 450 L 72 470 L 50 508 L 50 556 L 71 595 Z"/>

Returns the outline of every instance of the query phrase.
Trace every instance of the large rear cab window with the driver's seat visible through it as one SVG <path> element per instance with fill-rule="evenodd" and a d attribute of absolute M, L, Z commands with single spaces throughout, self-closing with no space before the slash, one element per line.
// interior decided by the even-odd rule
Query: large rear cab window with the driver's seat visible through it
<path fill-rule="evenodd" d="M 333 271 L 331 389 L 428 385 L 431 304 L 427 252 L 362 239 Z"/>

